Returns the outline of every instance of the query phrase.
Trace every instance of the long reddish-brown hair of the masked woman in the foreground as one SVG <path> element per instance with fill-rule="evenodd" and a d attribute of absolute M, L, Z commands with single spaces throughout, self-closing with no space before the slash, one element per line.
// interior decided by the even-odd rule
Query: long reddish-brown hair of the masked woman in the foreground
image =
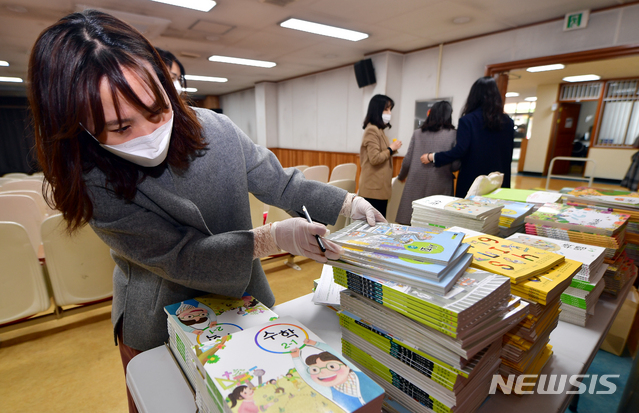
<path fill-rule="evenodd" d="M 148 86 L 155 98 L 151 107 L 133 92 L 124 68 Z M 83 178 L 91 169 L 100 169 L 106 175 L 104 184 L 130 201 L 148 174 L 158 173 L 166 164 L 185 170 L 206 148 L 195 112 L 178 96 L 155 48 L 137 30 L 108 14 L 73 13 L 45 29 L 33 46 L 28 79 L 38 161 L 50 184 L 44 188 L 50 191 L 45 196 L 62 212 L 71 232 L 93 217 Z M 150 113 L 171 105 L 173 133 L 165 163 L 156 168 L 135 165 L 101 148 L 82 128 L 80 124 L 91 125 L 95 136 L 105 128 L 103 80 L 109 83 L 120 122 L 121 99 Z"/>

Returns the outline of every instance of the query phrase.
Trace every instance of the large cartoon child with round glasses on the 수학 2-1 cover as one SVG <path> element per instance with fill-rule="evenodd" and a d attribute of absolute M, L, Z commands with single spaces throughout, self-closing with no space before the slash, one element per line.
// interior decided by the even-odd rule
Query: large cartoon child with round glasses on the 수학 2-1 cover
<path fill-rule="evenodd" d="M 353 412 L 375 398 L 368 394 L 368 386 L 360 383 L 364 373 L 350 368 L 349 364 L 331 353 L 330 347 L 314 340 L 304 340 L 304 344 L 324 350 L 308 356 L 303 362 L 300 349 L 291 351 L 293 364 L 302 379 L 322 396 L 332 400 L 342 409 Z"/>

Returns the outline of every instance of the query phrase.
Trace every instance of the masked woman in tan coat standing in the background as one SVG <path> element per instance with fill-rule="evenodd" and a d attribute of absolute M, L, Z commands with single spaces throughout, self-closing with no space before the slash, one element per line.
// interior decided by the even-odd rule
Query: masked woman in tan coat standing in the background
<path fill-rule="evenodd" d="M 396 140 L 389 143 L 384 129 L 390 128 L 393 99 L 385 95 L 375 95 L 368 103 L 364 119 L 364 136 L 359 149 L 361 172 L 359 175 L 359 195 L 366 199 L 382 215 L 391 196 L 393 179 L 393 155 L 402 146 Z"/>

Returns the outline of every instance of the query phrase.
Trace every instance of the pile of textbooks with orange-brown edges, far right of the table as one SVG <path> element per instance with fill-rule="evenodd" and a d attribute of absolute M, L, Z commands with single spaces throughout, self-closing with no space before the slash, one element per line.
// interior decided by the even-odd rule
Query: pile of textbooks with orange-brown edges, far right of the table
<path fill-rule="evenodd" d="M 526 217 L 526 233 L 604 247 L 605 258 L 615 260 L 624 246 L 629 217 L 595 207 L 549 203 Z"/>

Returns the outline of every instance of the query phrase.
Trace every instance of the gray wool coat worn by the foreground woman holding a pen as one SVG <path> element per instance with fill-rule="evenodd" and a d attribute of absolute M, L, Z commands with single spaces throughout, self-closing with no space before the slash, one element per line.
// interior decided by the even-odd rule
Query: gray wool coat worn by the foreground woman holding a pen
<path fill-rule="evenodd" d="M 105 176 L 85 175 L 93 201 L 91 227 L 111 247 L 114 328 L 124 344 L 149 350 L 168 339 L 164 306 L 207 293 L 247 292 L 267 306 L 275 298 L 253 259 L 249 192 L 292 212 L 335 223 L 346 191 L 283 169 L 226 116 L 194 108 L 209 149 L 188 170 L 147 176 L 132 202 L 116 198 Z"/>

